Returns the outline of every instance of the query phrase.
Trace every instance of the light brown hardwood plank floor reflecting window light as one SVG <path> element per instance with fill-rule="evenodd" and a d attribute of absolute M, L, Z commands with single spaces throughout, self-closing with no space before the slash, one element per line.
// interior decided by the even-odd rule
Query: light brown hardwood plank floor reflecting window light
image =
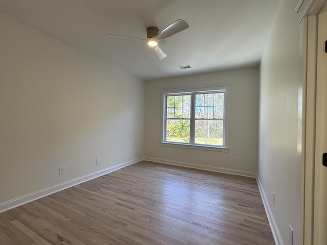
<path fill-rule="evenodd" d="M 143 161 L 0 213 L 0 244 L 275 243 L 255 179 Z"/>

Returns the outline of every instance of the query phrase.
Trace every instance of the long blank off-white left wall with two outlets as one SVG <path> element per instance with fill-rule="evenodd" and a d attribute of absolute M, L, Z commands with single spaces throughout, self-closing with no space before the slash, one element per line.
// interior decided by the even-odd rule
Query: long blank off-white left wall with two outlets
<path fill-rule="evenodd" d="M 143 80 L 4 15 L 0 36 L 0 204 L 143 158 Z"/>

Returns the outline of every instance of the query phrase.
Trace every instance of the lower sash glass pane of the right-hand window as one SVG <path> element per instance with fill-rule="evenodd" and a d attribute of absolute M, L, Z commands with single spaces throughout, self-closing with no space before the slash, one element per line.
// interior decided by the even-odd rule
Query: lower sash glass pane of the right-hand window
<path fill-rule="evenodd" d="M 223 145 L 223 120 L 196 120 L 195 143 Z"/>

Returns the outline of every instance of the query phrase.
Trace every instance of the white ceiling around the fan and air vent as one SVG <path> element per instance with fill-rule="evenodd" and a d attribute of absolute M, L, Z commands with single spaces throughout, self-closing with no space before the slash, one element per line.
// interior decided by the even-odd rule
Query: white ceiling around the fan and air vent
<path fill-rule="evenodd" d="M 8 15 L 145 80 L 258 65 L 279 0 L 0 0 Z M 190 28 L 163 41 L 159 60 L 146 38 L 177 19 Z M 191 65 L 181 70 L 178 66 Z"/>

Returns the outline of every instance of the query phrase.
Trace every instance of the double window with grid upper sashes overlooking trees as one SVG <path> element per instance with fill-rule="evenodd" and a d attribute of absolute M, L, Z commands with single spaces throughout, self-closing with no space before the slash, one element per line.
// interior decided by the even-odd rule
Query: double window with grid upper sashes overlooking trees
<path fill-rule="evenodd" d="M 162 91 L 162 142 L 227 149 L 228 89 Z"/>

